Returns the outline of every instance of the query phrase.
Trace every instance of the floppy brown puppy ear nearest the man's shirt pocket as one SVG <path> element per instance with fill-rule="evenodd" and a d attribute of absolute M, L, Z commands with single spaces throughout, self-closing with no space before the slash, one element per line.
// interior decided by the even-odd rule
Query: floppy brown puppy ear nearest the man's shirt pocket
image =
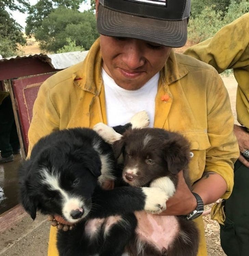
<path fill-rule="evenodd" d="M 181 136 L 182 137 L 182 136 Z M 168 170 L 176 175 L 186 169 L 189 162 L 189 143 L 185 138 L 170 138 L 163 143 Z"/>

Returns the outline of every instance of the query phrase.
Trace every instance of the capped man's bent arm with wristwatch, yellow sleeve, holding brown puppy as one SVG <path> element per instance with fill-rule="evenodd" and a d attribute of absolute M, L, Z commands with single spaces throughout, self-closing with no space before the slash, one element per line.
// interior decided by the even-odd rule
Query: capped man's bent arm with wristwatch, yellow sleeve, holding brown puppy
<path fill-rule="evenodd" d="M 214 74 L 207 95 L 207 122 L 210 148 L 206 150 L 206 166 L 202 178 L 193 184 L 192 191 L 210 204 L 227 198 L 233 188 L 233 164 L 239 151 L 233 133 L 233 115 L 222 79 Z M 191 170 L 189 170 L 191 172 Z M 182 172 L 174 196 L 166 203 L 162 215 L 186 215 L 196 208 L 196 199 L 188 189 Z"/>

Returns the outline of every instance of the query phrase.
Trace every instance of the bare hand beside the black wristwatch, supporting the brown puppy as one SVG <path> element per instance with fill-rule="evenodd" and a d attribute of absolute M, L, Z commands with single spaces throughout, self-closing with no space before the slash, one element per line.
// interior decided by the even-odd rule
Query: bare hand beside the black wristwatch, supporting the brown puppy
<path fill-rule="evenodd" d="M 189 190 L 183 171 L 178 174 L 178 186 L 175 194 L 166 202 L 166 210 L 159 215 L 187 215 L 197 206 L 196 198 Z"/>

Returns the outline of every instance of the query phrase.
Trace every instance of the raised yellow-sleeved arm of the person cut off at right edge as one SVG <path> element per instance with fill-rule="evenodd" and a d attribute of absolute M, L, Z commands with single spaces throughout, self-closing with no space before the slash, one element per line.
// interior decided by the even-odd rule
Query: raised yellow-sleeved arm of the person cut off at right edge
<path fill-rule="evenodd" d="M 249 13 L 222 27 L 213 37 L 189 47 L 184 54 L 213 66 L 218 73 L 249 65 Z"/>

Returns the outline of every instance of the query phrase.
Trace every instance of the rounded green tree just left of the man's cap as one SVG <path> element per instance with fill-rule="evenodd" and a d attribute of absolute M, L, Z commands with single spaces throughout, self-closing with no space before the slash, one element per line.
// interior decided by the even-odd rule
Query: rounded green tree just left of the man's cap
<path fill-rule="evenodd" d="M 36 39 L 43 50 L 57 52 L 67 45 L 67 38 L 88 50 L 99 37 L 92 11 L 57 8 L 42 21 Z"/>

